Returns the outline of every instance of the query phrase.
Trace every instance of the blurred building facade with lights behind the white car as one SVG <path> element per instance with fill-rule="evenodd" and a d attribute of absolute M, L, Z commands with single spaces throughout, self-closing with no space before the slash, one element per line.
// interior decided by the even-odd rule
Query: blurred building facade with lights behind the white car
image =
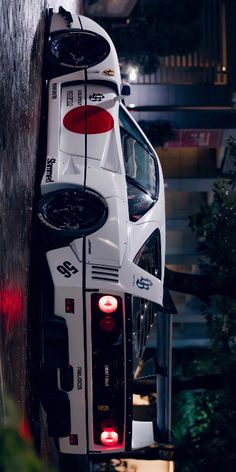
<path fill-rule="evenodd" d="M 167 120 L 176 138 L 158 148 L 165 185 L 166 264 L 180 272 L 199 270 L 198 241 L 189 215 L 211 201 L 213 183 L 224 156 L 227 136 L 236 136 L 236 3 L 204 0 L 203 36 L 191 54 L 162 57 L 151 75 L 139 75 L 127 104 L 135 119 Z M 204 346 L 207 331 L 203 304 L 192 295 L 172 293 L 174 347 Z"/>

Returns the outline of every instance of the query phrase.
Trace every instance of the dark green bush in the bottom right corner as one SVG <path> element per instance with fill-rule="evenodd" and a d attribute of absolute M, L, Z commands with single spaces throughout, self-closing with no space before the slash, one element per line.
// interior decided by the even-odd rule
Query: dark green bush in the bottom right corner
<path fill-rule="evenodd" d="M 234 338 L 226 352 L 225 344 L 216 342 L 217 333 L 215 337 L 215 332 L 210 332 L 208 352 L 183 350 L 180 359 L 174 357 L 174 372 L 181 376 L 174 377 L 177 384 L 173 383 L 172 408 L 176 460 L 181 472 L 220 472 L 224 467 L 230 472 L 235 470 L 236 344 Z M 199 369 L 203 375 L 199 375 Z M 186 374 L 194 376 L 193 382 L 189 383 L 189 378 L 186 381 Z M 176 386 L 181 386 L 179 391 Z"/>

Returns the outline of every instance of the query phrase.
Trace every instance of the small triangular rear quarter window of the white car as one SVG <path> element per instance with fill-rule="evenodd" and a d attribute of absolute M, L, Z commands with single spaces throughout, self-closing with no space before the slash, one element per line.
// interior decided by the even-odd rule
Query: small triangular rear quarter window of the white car
<path fill-rule="evenodd" d="M 161 243 L 158 229 L 151 234 L 136 254 L 134 263 L 154 277 L 161 279 Z"/>

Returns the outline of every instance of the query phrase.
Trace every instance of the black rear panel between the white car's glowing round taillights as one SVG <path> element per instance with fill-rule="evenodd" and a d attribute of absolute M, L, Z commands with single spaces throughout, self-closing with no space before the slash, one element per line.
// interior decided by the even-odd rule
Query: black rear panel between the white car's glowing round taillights
<path fill-rule="evenodd" d="M 101 311 L 98 302 L 103 295 L 91 295 L 94 443 L 101 444 L 104 425 L 115 427 L 121 445 L 125 438 L 125 313 L 119 295 L 116 295 L 118 306 L 112 315 Z M 101 323 L 106 319 L 114 323 L 108 331 Z"/>

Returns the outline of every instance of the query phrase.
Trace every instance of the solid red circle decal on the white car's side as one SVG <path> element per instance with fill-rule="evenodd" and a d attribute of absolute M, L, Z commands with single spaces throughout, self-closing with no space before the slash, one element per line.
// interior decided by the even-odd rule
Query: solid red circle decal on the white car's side
<path fill-rule="evenodd" d="M 100 134 L 110 131 L 114 120 L 103 108 L 87 105 L 70 110 L 63 118 L 63 125 L 72 133 Z"/>

